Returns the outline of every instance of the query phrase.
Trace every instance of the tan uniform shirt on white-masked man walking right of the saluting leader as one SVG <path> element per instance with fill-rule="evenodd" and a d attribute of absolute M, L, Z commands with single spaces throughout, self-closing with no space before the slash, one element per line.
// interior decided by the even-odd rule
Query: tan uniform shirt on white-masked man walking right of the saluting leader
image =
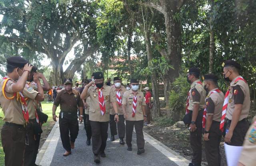
<path fill-rule="evenodd" d="M 144 120 L 143 112 L 142 112 L 142 106 L 145 106 L 145 99 L 144 94 L 142 91 L 137 91 L 137 105 L 136 105 L 136 112 L 135 116 L 132 117 L 132 103 L 133 103 L 133 97 L 134 94 L 132 93 L 132 90 L 126 91 L 124 93 L 123 99 L 122 99 L 122 105 L 126 106 L 126 114 L 128 115 L 127 121 L 142 121 Z"/>

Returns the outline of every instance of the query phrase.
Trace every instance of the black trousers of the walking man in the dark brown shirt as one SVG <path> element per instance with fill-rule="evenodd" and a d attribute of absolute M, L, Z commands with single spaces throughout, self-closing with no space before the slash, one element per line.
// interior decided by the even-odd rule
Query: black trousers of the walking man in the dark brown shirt
<path fill-rule="evenodd" d="M 78 136 L 78 120 L 77 114 L 72 113 L 63 113 L 63 118 L 61 117 L 62 113 L 59 115 L 59 124 L 60 124 L 60 138 L 62 141 L 63 148 L 70 152 L 71 146 L 70 141 L 75 142 Z M 70 134 L 70 136 L 69 136 Z"/>

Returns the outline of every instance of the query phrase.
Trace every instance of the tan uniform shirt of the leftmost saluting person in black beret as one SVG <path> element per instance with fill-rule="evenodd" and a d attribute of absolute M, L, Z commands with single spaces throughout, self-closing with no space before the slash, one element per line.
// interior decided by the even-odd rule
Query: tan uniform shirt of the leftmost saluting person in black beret
<path fill-rule="evenodd" d="M 8 76 L 5 76 L 6 78 L 10 78 Z M 3 87 L 4 79 L 0 82 L 0 102 L 2 105 L 2 111 L 4 112 L 4 121 L 9 123 L 15 123 L 15 124 L 25 124 L 25 120 L 22 114 L 22 107 L 20 104 L 20 101 L 16 100 L 16 97 L 14 99 L 6 99 L 2 93 L 2 87 Z M 12 97 L 14 95 L 12 91 L 12 86 L 14 85 L 15 81 L 10 79 L 6 83 L 5 87 L 5 94 L 7 97 Z"/>

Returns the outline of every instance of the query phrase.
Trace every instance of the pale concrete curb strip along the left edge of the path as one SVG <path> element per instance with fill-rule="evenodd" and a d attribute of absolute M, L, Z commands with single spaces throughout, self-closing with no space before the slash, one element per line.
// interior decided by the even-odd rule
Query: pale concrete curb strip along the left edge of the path
<path fill-rule="evenodd" d="M 52 158 L 60 138 L 60 132 L 58 131 L 59 123 L 58 121 L 52 127 L 52 131 L 45 140 L 42 148 L 40 149 L 37 158 L 36 164 L 41 166 L 50 166 Z"/>

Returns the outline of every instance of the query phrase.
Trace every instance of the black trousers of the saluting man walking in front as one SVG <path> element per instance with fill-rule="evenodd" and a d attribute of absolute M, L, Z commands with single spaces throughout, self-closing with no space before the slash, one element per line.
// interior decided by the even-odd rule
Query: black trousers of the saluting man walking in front
<path fill-rule="evenodd" d="M 104 152 L 108 138 L 108 122 L 90 121 L 92 126 L 92 152 L 94 155 Z"/>

